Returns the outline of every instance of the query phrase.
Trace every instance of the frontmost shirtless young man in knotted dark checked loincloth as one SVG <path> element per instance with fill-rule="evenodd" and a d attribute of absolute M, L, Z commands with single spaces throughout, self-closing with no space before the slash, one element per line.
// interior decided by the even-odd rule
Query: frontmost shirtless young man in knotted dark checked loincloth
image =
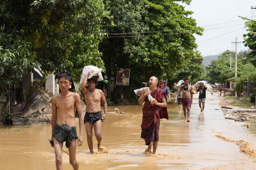
<path fill-rule="evenodd" d="M 62 147 L 66 141 L 66 147 L 69 152 L 69 163 L 74 169 L 78 169 L 76 161 L 76 124 L 75 110 L 79 115 L 79 131 L 78 146 L 83 144 L 83 119 L 82 107 L 79 94 L 69 92 L 75 89 L 71 76 L 68 72 L 61 72 L 59 75 L 58 85 L 61 92 L 52 96 L 52 139 L 51 146 L 54 147 L 56 169 L 62 169 Z"/>

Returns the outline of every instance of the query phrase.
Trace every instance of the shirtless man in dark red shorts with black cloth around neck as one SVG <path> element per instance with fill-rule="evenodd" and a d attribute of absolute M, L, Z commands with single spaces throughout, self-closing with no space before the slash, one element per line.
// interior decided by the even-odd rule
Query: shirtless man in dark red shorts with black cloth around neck
<path fill-rule="evenodd" d="M 190 108 L 191 104 L 193 102 L 193 87 L 188 84 L 188 78 L 184 78 L 184 85 L 180 86 L 179 92 L 176 94 L 176 99 L 180 95 L 180 92 L 183 92 L 182 94 L 182 106 L 183 106 L 183 113 L 185 116 L 185 121 L 190 122 L 189 117 L 190 117 Z"/>

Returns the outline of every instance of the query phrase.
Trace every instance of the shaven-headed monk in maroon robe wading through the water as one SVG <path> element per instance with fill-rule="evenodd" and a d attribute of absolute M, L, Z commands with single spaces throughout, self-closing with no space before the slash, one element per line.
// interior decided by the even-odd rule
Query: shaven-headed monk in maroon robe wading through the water
<path fill-rule="evenodd" d="M 148 148 L 145 153 L 152 153 L 152 142 L 153 142 L 153 154 L 156 154 L 156 148 L 159 140 L 159 126 L 160 119 L 168 119 L 167 104 L 165 100 L 165 93 L 162 89 L 156 87 L 158 78 L 151 77 L 148 81 L 148 88 L 144 88 L 139 98 L 139 104 L 143 102 L 144 106 L 142 109 L 142 124 L 141 124 L 141 138 L 144 139 Z M 148 95 L 151 95 L 153 99 L 151 102 L 148 100 Z M 159 111 L 161 107 L 161 111 Z"/>

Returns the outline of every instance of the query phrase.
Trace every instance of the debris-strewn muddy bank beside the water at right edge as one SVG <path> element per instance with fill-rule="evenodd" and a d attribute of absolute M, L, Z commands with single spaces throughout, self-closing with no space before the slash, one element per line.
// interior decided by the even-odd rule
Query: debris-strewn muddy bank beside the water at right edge
<path fill-rule="evenodd" d="M 231 101 L 239 100 L 232 98 L 220 97 L 220 109 L 223 111 L 226 119 L 233 119 L 235 121 L 256 120 L 256 109 L 248 109 L 242 107 L 232 106 Z"/>

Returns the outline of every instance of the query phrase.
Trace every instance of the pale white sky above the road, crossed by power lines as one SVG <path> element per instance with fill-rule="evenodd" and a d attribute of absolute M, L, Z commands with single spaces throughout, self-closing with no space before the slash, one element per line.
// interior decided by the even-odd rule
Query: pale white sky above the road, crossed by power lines
<path fill-rule="evenodd" d="M 219 55 L 221 52 L 246 50 L 243 34 L 246 34 L 244 20 L 239 16 L 256 20 L 256 0 L 192 0 L 189 5 L 183 4 L 185 10 L 194 11 L 191 15 L 197 26 L 204 28 L 202 36 L 194 35 L 197 50 L 203 56 Z M 225 35 L 224 35 L 225 34 Z M 210 40 L 209 40 L 210 39 Z"/>

